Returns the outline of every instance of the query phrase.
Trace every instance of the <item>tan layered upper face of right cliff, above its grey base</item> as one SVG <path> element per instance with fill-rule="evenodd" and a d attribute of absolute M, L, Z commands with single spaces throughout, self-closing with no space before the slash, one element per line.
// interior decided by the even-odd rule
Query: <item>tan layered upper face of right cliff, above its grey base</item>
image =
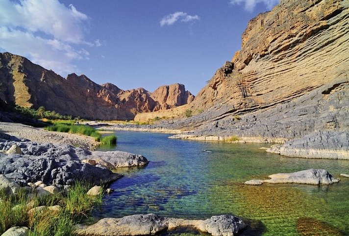
<path fill-rule="evenodd" d="M 282 104 L 346 78 L 348 5 L 346 0 L 281 0 L 249 22 L 241 50 L 216 72 L 192 106 L 214 107 L 216 116 L 244 112 Z"/>

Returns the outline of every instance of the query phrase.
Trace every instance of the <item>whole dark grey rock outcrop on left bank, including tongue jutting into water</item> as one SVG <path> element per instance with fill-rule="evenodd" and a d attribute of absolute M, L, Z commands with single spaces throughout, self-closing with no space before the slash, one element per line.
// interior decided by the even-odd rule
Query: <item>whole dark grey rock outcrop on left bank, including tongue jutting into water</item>
<path fill-rule="evenodd" d="M 37 181 L 59 185 L 70 185 L 75 181 L 109 183 L 122 176 L 110 169 L 148 163 L 140 155 L 118 151 L 89 152 L 70 145 L 50 143 L 6 141 L 0 143 L 0 150 L 7 151 L 13 145 L 17 145 L 23 154 L 0 153 L 0 174 L 24 184 Z M 81 161 L 95 157 L 104 159 L 110 166 L 98 163 L 91 165 Z"/>

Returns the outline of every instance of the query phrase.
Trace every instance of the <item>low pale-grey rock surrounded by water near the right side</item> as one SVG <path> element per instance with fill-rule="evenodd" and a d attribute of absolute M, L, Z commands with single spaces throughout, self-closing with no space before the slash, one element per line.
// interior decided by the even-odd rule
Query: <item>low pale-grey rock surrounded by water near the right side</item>
<path fill-rule="evenodd" d="M 294 173 L 280 173 L 268 176 L 270 180 L 250 180 L 245 182 L 247 185 L 270 184 L 334 184 L 339 180 L 333 178 L 326 170 L 309 169 Z"/>

